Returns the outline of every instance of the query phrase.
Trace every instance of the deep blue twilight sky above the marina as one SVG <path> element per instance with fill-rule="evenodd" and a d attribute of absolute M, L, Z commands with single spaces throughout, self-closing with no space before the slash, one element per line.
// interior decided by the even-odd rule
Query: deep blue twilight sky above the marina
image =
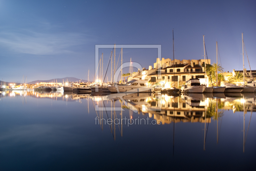
<path fill-rule="evenodd" d="M 162 58 L 173 58 L 172 29 L 176 59 L 203 59 L 205 35 L 211 63 L 216 62 L 218 41 L 224 71 L 243 69 L 244 32 L 256 70 L 256 1 L 0 0 L 0 23 L 0 79 L 7 82 L 20 82 L 23 75 L 28 82 L 87 79 L 88 69 L 92 80 L 95 44 L 161 44 Z M 101 53 L 105 71 L 111 49 Z M 116 49 L 116 60 L 119 54 Z M 123 49 L 124 62 L 130 58 L 148 68 L 156 62 L 157 50 Z"/>

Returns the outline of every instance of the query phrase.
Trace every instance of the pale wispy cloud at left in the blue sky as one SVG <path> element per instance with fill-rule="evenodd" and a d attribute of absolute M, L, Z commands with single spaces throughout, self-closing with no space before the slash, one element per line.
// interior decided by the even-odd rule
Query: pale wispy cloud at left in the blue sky
<path fill-rule="evenodd" d="M 0 32 L 2 47 L 17 53 L 34 55 L 72 53 L 78 46 L 89 41 L 92 41 L 92 36 L 84 33 L 42 33 L 28 29 Z"/>

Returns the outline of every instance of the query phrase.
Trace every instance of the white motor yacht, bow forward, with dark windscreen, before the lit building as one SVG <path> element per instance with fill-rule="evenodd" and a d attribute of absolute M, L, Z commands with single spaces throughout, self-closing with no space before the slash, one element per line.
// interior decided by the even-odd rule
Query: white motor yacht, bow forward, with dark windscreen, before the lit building
<path fill-rule="evenodd" d="M 205 85 L 201 85 L 198 78 L 192 78 L 186 81 L 185 85 L 182 85 L 181 91 L 188 93 L 203 93 Z"/>

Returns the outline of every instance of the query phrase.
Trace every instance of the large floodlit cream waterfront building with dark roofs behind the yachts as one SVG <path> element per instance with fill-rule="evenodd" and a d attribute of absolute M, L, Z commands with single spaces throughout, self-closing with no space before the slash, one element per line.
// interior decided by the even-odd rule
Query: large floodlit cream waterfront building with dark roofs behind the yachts
<path fill-rule="evenodd" d="M 131 77 L 128 77 L 128 81 L 132 79 L 148 79 L 151 80 L 151 84 L 162 82 L 164 88 L 170 88 L 175 86 L 181 87 L 186 81 L 192 78 L 198 78 L 201 84 L 209 86 L 208 76 L 205 79 L 204 64 L 211 64 L 211 60 L 199 59 L 199 60 L 178 60 L 178 59 L 156 59 L 154 68 L 149 66 L 148 69 L 138 69 L 138 72 L 133 73 Z"/>

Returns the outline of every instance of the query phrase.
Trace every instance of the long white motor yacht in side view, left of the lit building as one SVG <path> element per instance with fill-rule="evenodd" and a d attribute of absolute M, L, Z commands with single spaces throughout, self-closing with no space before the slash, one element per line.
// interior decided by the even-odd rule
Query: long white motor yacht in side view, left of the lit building
<path fill-rule="evenodd" d="M 116 86 L 108 86 L 107 88 L 111 92 L 126 92 L 129 91 L 131 93 L 141 93 L 141 92 L 153 92 L 153 88 L 149 88 L 146 86 L 148 80 L 131 80 L 127 82 L 125 85 L 116 85 Z M 118 90 L 117 90 L 118 89 Z"/>

